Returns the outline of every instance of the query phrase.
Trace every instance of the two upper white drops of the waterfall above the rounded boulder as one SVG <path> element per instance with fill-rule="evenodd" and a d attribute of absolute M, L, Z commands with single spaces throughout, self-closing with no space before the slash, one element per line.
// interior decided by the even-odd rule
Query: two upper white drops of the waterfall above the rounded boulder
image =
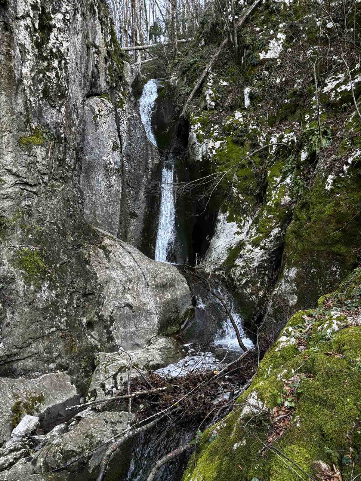
<path fill-rule="evenodd" d="M 148 139 L 156 146 L 156 140 L 151 125 L 154 102 L 157 98 L 157 81 L 149 80 L 143 88 L 139 101 L 142 123 Z M 175 205 L 173 195 L 174 162 L 167 161 L 162 171 L 161 196 L 158 232 L 155 242 L 155 260 L 167 262 L 167 253 L 175 235 Z"/>

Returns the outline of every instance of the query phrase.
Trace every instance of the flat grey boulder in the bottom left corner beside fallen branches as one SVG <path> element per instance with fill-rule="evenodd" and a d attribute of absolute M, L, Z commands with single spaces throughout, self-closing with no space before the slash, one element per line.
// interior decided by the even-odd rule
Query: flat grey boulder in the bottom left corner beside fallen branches
<path fill-rule="evenodd" d="M 131 417 L 134 418 L 134 415 Z M 85 481 L 95 479 L 100 461 L 108 443 L 127 427 L 128 413 L 88 411 L 86 415 L 72 418 L 67 432 L 39 439 L 40 436 L 24 438 L 0 450 L 0 480 L 19 481 L 66 480 Z M 79 459 L 77 459 L 79 458 Z M 52 469 L 60 468 L 69 461 L 76 461 L 53 477 Z M 129 468 L 128 445 L 117 451 L 117 473 L 126 474 Z M 84 468 L 86 466 L 86 468 Z"/>

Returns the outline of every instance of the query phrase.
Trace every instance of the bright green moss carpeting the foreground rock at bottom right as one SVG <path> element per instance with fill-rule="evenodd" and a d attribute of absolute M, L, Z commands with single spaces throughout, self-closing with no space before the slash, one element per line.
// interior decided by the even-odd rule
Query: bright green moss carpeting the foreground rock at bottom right
<path fill-rule="evenodd" d="M 312 309 L 297 312 L 281 336 L 291 339 L 303 335 L 307 342 L 316 340 L 317 328 L 327 324 L 328 318 L 317 313 Z M 312 335 L 305 332 L 309 323 L 313 324 Z M 330 465 L 334 462 L 346 476 L 349 468 L 341 464 L 342 456 L 360 442 L 360 430 L 354 429 L 360 426 L 360 350 L 358 326 L 335 331 L 328 339 L 319 338 L 302 353 L 295 345 L 280 347 L 277 342 L 262 359 L 250 387 L 237 400 L 231 415 L 202 435 L 183 481 L 196 476 L 204 481 L 249 481 L 253 477 L 294 481 L 299 479 L 298 474 L 303 476 L 300 469 L 315 477 L 313 463 L 318 460 Z M 271 443 L 271 449 L 265 449 L 269 435 L 267 418 L 257 411 L 242 414 L 245 400 L 252 395 L 255 403 L 256 396 L 265 409 L 272 409 L 283 395 L 284 383 L 294 383 L 295 375 L 298 380 L 290 428 Z M 219 435 L 210 444 L 214 432 Z M 272 450 L 272 446 L 278 451 Z M 337 453 L 337 462 L 332 461 L 325 446 Z M 351 451 L 351 461 L 359 471 L 358 449 Z"/>

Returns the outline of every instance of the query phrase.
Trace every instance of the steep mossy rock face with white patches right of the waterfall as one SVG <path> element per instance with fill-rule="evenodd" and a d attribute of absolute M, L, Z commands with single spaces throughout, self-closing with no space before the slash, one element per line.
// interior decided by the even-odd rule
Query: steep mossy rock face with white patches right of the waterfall
<path fill-rule="evenodd" d="M 359 249 L 360 118 L 341 58 L 334 57 L 331 71 L 320 65 L 320 148 L 315 89 L 294 63 L 291 35 L 293 15 L 314 51 L 309 8 L 307 2 L 292 12 L 286 2 L 259 5 L 240 31 L 242 61 L 224 51 L 188 112 L 190 178 L 214 178 L 199 189 L 204 200 L 195 224 L 199 232 L 203 223 L 207 239 L 197 243 L 198 254 L 206 269 L 226 272 L 245 319 L 266 314 L 275 332 L 290 314 L 334 289 L 357 265 Z M 200 38 L 207 46 L 199 46 Z M 216 27 L 201 30 L 173 65 L 180 103 L 218 45 Z M 360 102 L 359 70 L 351 64 Z M 205 189 L 212 191 L 207 203 Z M 209 219 L 215 219 L 213 233 Z"/>

